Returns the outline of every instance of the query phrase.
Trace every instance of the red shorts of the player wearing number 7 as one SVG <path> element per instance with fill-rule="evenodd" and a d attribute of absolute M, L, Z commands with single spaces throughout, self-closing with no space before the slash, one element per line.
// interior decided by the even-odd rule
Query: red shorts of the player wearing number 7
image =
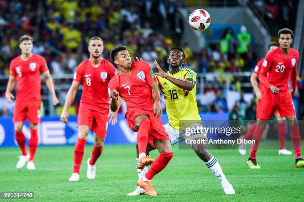
<path fill-rule="evenodd" d="M 148 134 L 148 141 L 153 148 L 155 148 L 155 146 L 154 146 L 155 139 L 156 140 L 165 139 L 165 140 L 170 141 L 169 135 L 167 134 L 165 128 L 162 126 L 163 123 L 162 123 L 161 119 L 159 117 L 157 118 L 156 116 L 154 116 L 154 114 L 152 112 L 149 112 L 149 111 L 145 111 L 145 110 L 127 111 L 126 118 L 128 121 L 128 126 L 131 130 L 133 130 L 134 132 L 138 131 L 138 129 L 136 129 L 134 126 L 134 120 L 140 114 L 146 114 L 149 117 L 150 130 L 149 130 L 149 134 Z"/>

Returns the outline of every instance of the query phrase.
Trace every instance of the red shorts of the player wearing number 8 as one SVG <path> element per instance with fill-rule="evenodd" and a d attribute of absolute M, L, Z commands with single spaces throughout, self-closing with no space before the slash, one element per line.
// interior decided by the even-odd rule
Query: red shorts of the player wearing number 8
<path fill-rule="evenodd" d="M 77 126 L 86 125 L 98 136 L 105 138 L 108 128 L 108 113 L 80 107 L 78 110 Z"/>

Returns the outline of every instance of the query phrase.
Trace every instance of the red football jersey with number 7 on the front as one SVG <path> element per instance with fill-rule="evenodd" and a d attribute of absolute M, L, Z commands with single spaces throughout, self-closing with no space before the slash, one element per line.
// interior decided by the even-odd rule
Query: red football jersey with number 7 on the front
<path fill-rule="evenodd" d="M 126 102 L 127 111 L 141 109 L 153 113 L 152 91 L 150 84 L 156 82 L 155 76 L 147 61 L 132 63 L 131 74 L 118 72 L 108 85 L 109 94 L 116 90 Z"/>

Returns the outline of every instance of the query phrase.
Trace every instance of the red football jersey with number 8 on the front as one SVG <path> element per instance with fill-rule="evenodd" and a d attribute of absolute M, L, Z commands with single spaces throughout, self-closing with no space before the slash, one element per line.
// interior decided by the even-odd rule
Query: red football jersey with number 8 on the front
<path fill-rule="evenodd" d="M 102 59 L 98 67 L 93 67 L 89 59 L 80 63 L 74 73 L 74 81 L 83 85 L 80 107 L 108 113 L 107 87 L 115 73 L 116 68 L 106 59 Z"/>

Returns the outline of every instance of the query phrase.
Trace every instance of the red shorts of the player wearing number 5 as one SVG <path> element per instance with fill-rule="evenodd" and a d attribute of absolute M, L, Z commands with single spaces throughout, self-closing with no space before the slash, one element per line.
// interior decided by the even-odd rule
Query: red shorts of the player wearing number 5
<path fill-rule="evenodd" d="M 28 119 L 30 123 L 40 123 L 40 102 L 16 100 L 13 122 L 23 122 Z"/>

